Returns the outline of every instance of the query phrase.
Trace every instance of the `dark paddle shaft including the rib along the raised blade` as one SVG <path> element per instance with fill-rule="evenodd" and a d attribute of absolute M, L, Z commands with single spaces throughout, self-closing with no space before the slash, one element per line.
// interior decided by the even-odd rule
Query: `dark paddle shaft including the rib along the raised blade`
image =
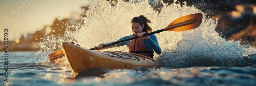
<path fill-rule="evenodd" d="M 198 18 L 197 18 L 197 19 L 198 19 Z M 163 32 L 163 31 L 168 31 L 168 30 L 173 29 L 173 28 L 176 28 L 176 27 L 180 27 L 180 26 L 192 24 L 192 23 L 196 22 L 197 19 L 187 20 L 187 21 L 185 21 L 185 22 L 181 22 L 181 23 L 178 23 L 178 24 L 175 24 L 175 25 L 168 26 L 168 27 L 166 27 L 166 28 L 164 28 L 164 29 L 161 29 L 161 30 L 153 31 L 153 32 L 150 32 L 150 33 L 145 33 L 145 34 L 143 35 L 143 37 L 144 37 L 144 36 L 148 36 L 148 35 L 152 35 L 152 34 L 155 34 L 155 33 L 160 33 L 160 32 Z M 135 37 L 123 39 L 123 40 L 116 41 L 116 42 L 111 42 L 110 44 L 103 45 L 103 48 L 104 48 L 104 47 L 108 47 L 108 46 L 112 46 L 112 45 L 115 45 L 115 44 L 119 44 L 119 43 L 121 43 L 121 42 L 129 41 L 129 40 L 132 40 L 132 39 L 137 39 L 137 38 L 139 38 L 139 36 L 135 36 Z M 98 49 L 97 46 L 95 46 L 94 48 L 90 48 L 90 50 L 97 50 L 97 49 Z"/>

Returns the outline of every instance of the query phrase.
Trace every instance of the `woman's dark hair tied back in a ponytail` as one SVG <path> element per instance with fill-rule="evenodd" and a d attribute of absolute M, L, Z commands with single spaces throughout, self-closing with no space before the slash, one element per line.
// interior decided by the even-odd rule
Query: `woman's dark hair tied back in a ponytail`
<path fill-rule="evenodd" d="M 144 15 L 140 15 L 139 17 L 134 17 L 131 20 L 131 23 L 139 23 L 141 26 L 144 25 L 144 28 L 142 29 L 142 32 L 151 32 L 152 28 L 148 26 L 147 23 L 151 23 L 150 20 L 148 20 Z"/>

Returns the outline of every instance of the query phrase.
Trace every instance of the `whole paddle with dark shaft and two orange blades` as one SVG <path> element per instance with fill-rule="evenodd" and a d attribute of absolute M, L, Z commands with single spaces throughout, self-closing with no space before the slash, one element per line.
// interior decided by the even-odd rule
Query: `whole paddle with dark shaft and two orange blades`
<path fill-rule="evenodd" d="M 202 22 L 202 19 L 203 19 L 203 14 L 202 13 L 195 13 L 195 14 L 186 15 L 186 16 L 180 17 L 178 19 L 175 19 L 166 28 L 163 28 L 161 30 L 157 30 L 157 31 L 154 31 L 154 32 L 150 32 L 150 33 L 145 33 L 143 36 L 148 36 L 148 35 L 155 34 L 155 33 L 160 33 L 160 32 L 163 32 L 163 31 L 186 31 L 186 30 L 195 29 L 198 26 L 200 26 L 200 24 Z M 127 39 L 124 39 L 124 40 L 112 42 L 110 44 L 104 45 L 103 47 L 119 44 L 121 42 L 129 41 L 129 40 L 136 39 L 136 38 L 139 38 L 139 37 L 135 36 L 135 37 L 132 37 L 132 38 L 127 38 Z M 94 48 L 91 48 L 90 50 L 97 50 L 97 49 L 98 49 L 98 47 L 94 47 Z M 55 52 L 53 52 L 53 53 L 48 55 L 48 58 L 50 59 L 50 58 L 56 57 L 56 56 L 58 56 L 58 58 L 61 58 L 61 57 L 59 57 L 59 55 L 61 55 L 61 57 L 64 56 L 63 53 L 57 55 L 57 54 L 55 54 Z"/>

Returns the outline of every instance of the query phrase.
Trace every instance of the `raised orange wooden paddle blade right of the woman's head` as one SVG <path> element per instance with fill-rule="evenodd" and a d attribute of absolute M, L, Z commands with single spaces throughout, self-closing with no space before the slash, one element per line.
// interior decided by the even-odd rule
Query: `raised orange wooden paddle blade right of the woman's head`
<path fill-rule="evenodd" d="M 174 20 L 164 29 L 164 31 L 186 31 L 195 29 L 202 23 L 203 14 L 196 13 L 180 17 Z M 172 26 L 172 27 L 171 27 Z"/>

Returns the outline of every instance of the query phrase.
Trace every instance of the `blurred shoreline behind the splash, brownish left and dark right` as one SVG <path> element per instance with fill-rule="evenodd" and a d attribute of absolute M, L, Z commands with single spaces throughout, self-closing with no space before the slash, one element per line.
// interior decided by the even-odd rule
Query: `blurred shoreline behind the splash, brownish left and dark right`
<path fill-rule="evenodd" d="M 107 0 L 109 1 L 109 0 Z M 157 1 L 148 1 L 152 6 L 153 10 L 161 11 L 162 4 L 180 4 L 184 0 L 172 1 L 163 0 L 163 3 Z M 110 4 L 115 6 L 111 1 Z M 127 1 L 125 1 L 127 2 Z M 256 46 L 256 1 L 186 1 L 188 6 L 194 6 L 202 12 L 207 13 L 207 18 L 216 19 L 218 18 L 218 26 L 216 27 L 216 32 L 226 39 L 229 40 L 241 40 L 242 45 L 249 44 L 251 46 Z M 88 7 L 81 7 L 84 10 L 89 10 Z M 85 11 L 86 12 L 86 11 Z M 81 17 L 86 17 L 81 14 Z M 54 20 L 51 26 L 45 26 L 40 31 L 36 31 L 33 34 L 28 34 L 25 38 L 23 35 L 17 38 L 15 41 L 8 41 L 8 51 L 38 51 L 38 42 L 44 42 L 44 38 L 50 35 L 63 36 L 67 29 L 65 25 L 77 25 L 78 23 L 84 24 L 84 22 L 79 19 L 75 20 L 73 18 L 66 18 L 63 20 Z M 64 26 L 63 26 L 64 25 Z M 53 49 L 54 50 L 54 49 Z M 0 51 L 4 51 L 4 42 L 0 41 Z"/>

